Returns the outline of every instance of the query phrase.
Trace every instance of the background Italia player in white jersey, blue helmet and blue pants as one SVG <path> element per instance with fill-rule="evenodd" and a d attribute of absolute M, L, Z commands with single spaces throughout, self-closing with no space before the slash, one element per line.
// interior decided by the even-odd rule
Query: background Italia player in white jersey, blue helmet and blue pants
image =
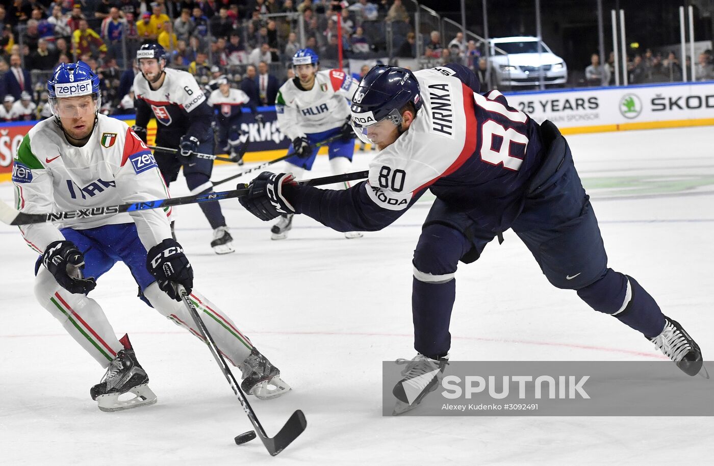
<path fill-rule="evenodd" d="M 330 166 L 336 175 L 350 171 L 355 150 L 348 99 L 358 82 L 341 70 L 318 71 L 319 63 L 312 49 L 298 50 L 293 56 L 295 78 L 281 86 L 275 101 L 278 126 L 293 142 L 288 151 L 295 153 L 286 158 L 285 171 L 298 179 L 311 170 L 318 152 L 316 143 L 338 136 L 328 145 Z M 348 183 L 345 185 L 349 187 Z M 281 216 L 271 228 L 271 238 L 286 238 L 292 226 L 293 214 Z M 361 236 L 356 231 L 345 233 L 345 238 Z"/>

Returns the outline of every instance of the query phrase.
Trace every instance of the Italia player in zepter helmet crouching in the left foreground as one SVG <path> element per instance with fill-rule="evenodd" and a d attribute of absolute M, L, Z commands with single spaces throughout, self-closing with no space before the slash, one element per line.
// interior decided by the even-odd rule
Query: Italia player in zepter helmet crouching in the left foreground
<path fill-rule="evenodd" d="M 168 197 L 154 156 L 139 136 L 123 121 L 98 114 L 99 76 L 88 65 L 59 65 L 47 88 L 54 118 L 31 128 L 14 160 L 12 181 L 19 211 L 47 213 Z M 134 211 L 76 218 L 58 226 L 20 227 L 26 242 L 41 254 L 35 265 L 37 300 L 106 368 L 104 378 L 90 391 L 101 410 L 156 402 L 129 337 L 117 340 L 104 310 L 86 296 L 114 263 L 126 264 L 147 304 L 198 336 L 176 292 L 176 285 L 191 292 L 193 270 L 181 245 L 171 238 L 169 214 L 158 209 Z M 221 352 L 241 368 L 246 392 L 273 397 L 289 390 L 277 368 L 230 319 L 195 290 L 191 300 L 202 316 L 210 316 L 203 317 L 204 323 Z M 136 396 L 119 400 L 126 392 Z"/>

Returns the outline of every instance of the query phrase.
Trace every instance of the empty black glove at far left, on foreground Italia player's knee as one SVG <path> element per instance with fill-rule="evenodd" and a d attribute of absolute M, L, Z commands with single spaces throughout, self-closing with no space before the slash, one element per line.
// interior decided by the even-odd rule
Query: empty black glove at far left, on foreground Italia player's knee
<path fill-rule="evenodd" d="M 62 288 L 70 293 L 86 295 L 96 286 L 94 278 L 84 278 L 84 254 L 68 240 L 50 243 L 42 254 L 42 265 Z"/>

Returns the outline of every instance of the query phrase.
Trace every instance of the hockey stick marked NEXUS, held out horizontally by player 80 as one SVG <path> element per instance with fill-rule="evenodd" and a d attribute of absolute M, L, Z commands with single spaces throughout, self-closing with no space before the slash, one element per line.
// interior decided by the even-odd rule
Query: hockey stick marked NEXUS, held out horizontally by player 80
<path fill-rule="evenodd" d="M 368 174 L 368 171 L 356 171 L 342 175 L 323 176 L 322 178 L 303 180 L 298 183 L 303 186 L 321 186 L 332 183 L 343 183 L 344 181 L 361 180 L 367 178 Z M 11 206 L 8 206 L 4 201 L 0 201 L 0 222 L 6 223 L 7 225 L 29 225 L 30 223 L 61 221 L 69 218 L 87 218 L 114 213 L 144 211 L 152 208 L 181 206 L 183 204 L 222 201 L 223 199 L 239 198 L 246 194 L 248 194 L 248 184 L 243 183 L 241 188 L 231 191 L 218 191 L 218 193 L 202 193 L 193 196 L 183 196 L 182 198 L 157 199 L 156 201 L 120 204 L 119 206 L 90 207 L 76 211 L 50 213 L 18 212 Z"/>

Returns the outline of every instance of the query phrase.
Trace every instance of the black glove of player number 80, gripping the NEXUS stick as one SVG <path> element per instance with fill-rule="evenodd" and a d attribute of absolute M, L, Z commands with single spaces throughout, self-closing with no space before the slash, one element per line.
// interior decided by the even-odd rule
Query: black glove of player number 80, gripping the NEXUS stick
<path fill-rule="evenodd" d="M 295 208 L 283 193 L 286 185 L 297 186 L 292 175 L 263 171 L 248 185 L 248 194 L 238 198 L 238 201 L 262 221 L 273 220 L 281 213 L 295 213 Z M 238 185 L 238 188 L 243 186 Z"/>

